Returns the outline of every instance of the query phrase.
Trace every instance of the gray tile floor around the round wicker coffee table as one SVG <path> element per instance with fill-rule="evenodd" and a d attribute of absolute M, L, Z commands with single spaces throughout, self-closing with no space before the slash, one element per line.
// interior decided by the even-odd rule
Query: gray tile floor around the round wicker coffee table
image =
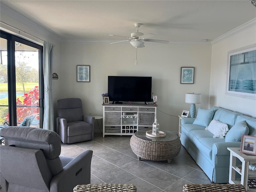
<path fill-rule="evenodd" d="M 130 138 L 102 138 L 98 134 L 90 141 L 62 144 L 61 155 L 76 157 L 84 150 L 92 150 L 92 184 L 127 183 L 134 184 L 138 192 L 182 192 L 188 183 L 211 183 L 185 148 L 181 148 L 170 164 L 167 161 L 139 161 L 130 148 Z"/>

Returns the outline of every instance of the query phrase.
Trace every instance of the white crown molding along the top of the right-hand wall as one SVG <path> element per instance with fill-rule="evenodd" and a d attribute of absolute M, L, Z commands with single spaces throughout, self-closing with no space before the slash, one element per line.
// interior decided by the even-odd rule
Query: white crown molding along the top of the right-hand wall
<path fill-rule="evenodd" d="M 228 38 L 228 37 L 230 37 L 232 35 L 240 33 L 240 32 L 242 32 L 242 31 L 244 31 L 244 30 L 246 30 L 248 28 L 251 28 L 253 26 L 256 26 L 256 18 L 254 18 L 254 19 L 252 19 L 252 20 L 250 20 L 250 21 L 240 25 L 239 27 L 234 28 L 231 31 L 229 31 L 229 32 L 227 32 L 227 33 L 225 33 L 225 34 L 215 38 L 214 40 L 212 40 L 211 44 L 217 43 L 217 42 L 219 42 L 221 40 L 224 40 L 225 38 Z"/>

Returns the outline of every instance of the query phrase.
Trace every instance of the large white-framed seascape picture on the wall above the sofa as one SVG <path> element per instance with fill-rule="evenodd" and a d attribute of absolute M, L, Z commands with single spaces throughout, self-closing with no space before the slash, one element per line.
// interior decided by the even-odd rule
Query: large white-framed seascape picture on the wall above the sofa
<path fill-rule="evenodd" d="M 256 44 L 228 52 L 226 94 L 256 99 Z"/>

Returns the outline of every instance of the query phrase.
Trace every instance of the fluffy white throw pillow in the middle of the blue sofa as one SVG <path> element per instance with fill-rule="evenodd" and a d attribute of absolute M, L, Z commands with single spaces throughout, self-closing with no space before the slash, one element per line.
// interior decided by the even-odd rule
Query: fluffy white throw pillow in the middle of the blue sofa
<path fill-rule="evenodd" d="M 210 122 L 209 126 L 205 128 L 205 130 L 208 130 L 212 134 L 214 134 L 213 138 L 224 138 L 224 136 L 228 132 L 228 125 L 216 119 L 213 119 Z"/>

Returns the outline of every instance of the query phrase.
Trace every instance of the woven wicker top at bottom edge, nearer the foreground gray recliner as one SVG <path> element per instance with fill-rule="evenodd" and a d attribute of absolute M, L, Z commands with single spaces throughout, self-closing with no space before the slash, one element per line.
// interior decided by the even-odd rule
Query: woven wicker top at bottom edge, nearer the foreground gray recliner
<path fill-rule="evenodd" d="M 77 185 L 73 192 L 137 192 L 132 184 L 87 184 Z"/>

